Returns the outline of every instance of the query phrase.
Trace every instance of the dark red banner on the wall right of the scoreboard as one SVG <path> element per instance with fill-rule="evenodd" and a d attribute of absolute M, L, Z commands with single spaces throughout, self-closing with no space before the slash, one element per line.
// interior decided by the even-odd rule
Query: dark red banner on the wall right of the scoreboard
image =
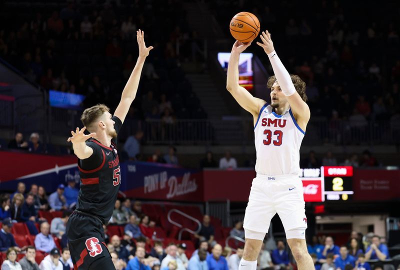
<path fill-rule="evenodd" d="M 400 170 L 357 169 L 354 171 L 354 200 L 400 198 Z"/>

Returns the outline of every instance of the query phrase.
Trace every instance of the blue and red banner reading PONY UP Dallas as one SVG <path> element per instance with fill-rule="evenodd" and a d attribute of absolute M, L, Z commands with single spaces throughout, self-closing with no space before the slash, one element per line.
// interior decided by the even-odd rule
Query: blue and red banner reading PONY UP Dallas
<path fill-rule="evenodd" d="M 123 162 L 120 190 L 128 197 L 202 201 L 203 181 L 200 170 L 168 164 Z"/>

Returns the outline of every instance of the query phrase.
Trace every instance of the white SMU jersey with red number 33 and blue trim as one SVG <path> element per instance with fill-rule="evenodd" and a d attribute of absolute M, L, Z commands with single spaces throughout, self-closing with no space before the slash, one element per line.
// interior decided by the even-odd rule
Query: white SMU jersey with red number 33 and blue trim
<path fill-rule="evenodd" d="M 298 175 L 304 134 L 290 108 L 279 115 L 265 103 L 254 126 L 255 171 L 265 175 Z"/>

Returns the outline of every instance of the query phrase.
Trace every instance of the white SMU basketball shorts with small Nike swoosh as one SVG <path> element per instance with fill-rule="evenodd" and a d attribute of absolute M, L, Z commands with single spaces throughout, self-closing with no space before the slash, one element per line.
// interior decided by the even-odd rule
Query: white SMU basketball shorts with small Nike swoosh
<path fill-rule="evenodd" d="M 295 175 L 263 175 L 253 179 L 243 227 L 266 233 L 275 213 L 282 221 L 287 238 L 305 237 L 307 218 L 301 179 Z M 293 235 L 298 231 L 299 235 Z"/>

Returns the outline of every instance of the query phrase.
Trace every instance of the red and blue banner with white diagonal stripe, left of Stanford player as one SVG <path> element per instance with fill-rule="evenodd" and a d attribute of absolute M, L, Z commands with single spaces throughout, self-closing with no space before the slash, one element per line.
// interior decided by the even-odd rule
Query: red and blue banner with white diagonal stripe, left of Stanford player
<path fill-rule="evenodd" d="M 18 182 L 24 182 L 27 190 L 32 183 L 53 192 L 60 183 L 74 179 L 79 187 L 77 158 L 73 155 L 55 156 L 0 151 L 0 190 L 16 190 Z"/>

